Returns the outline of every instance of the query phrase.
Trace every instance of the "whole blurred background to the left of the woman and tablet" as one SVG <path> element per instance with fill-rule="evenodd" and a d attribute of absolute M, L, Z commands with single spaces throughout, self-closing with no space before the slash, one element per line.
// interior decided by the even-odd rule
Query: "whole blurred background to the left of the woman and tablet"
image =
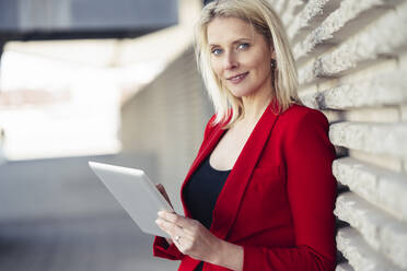
<path fill-rule="evenodd" d="M 88 161 L 182 181 L 211 114 L 191 51 L 202 3 L 0 0 L 0 270 L 176 270 Z"/>

